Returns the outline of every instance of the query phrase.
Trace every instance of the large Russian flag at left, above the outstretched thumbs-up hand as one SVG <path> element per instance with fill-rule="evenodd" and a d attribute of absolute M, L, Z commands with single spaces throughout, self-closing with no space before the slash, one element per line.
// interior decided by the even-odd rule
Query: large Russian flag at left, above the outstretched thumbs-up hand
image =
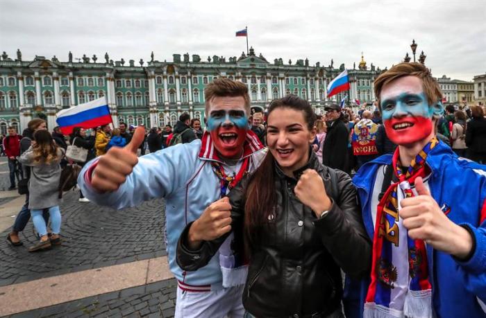
<path fill-rule="evenodd" d="M 56 123 L 58 123 L 62 134 L 71 134 L 74 127 L 87 129 L 112 123 L 110 108 L 104 97 L 62 109 L 56 114 L 56 117 Z"/>

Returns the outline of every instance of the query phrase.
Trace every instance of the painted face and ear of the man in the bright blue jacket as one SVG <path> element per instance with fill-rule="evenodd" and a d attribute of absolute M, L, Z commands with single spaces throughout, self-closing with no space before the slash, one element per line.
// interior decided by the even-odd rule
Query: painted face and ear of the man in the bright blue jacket
<path fill-rule="evenodd" d="M 434 129 L 433 116 L 440 116 L 444 111 L 440 102 L 428 105 L 421 80 L 415 76 L 385 85 L 380 98 L 385 131 L 397 145 L 426 139 Z"/>

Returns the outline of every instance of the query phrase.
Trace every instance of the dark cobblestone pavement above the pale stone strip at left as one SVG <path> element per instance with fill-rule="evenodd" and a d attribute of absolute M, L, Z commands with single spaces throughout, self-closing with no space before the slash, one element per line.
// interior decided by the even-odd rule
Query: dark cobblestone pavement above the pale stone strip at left
<path fill-rule="evenodd" d="M 28 247 L 37 240 L 32 222 L 20 234 L 22 247 L 8 244 L 10 229 L 0 233 L 0 286 L 167 254 L 163 200 L 115 211 L 78 202 L 78 191 L 70 191 L 65 193 L 60 210 L 60 247 L 29 253 Z"/>

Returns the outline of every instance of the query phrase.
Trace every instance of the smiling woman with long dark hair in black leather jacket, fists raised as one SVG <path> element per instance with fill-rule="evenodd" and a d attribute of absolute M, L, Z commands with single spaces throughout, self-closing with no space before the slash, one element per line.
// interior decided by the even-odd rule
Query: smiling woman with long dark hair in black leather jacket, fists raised
<path fill-rule="evenodd" d="M 205 266 L 231 229 L 242 236 L 248 317 L 344 317 L 341 270 L 369 270 L 371 243 L 355 188 L 310 148 L 315 120 L 297 96 L 274 100 L 265 160 L 181 234 L 177 262 L 187 271 Z"/>

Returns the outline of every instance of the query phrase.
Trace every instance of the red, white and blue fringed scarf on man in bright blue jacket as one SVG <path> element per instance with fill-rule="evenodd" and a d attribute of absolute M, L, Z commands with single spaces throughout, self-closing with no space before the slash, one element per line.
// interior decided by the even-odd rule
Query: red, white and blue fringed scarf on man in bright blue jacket
<path fill-rule="evenodd" d="M 365 318 L 432 317 L 426 246 L 423 240 L 408 236 L 399 218 L 399 201 L 413 197 L 410 184 L 430 173 L 425 162 L 437 143 L 437 139 L 432 139 L 406 172 L 400 162 L 399 148 L 395 150 L 392 165 L 399 182 L 389 186 L 378 203 Z"/>

